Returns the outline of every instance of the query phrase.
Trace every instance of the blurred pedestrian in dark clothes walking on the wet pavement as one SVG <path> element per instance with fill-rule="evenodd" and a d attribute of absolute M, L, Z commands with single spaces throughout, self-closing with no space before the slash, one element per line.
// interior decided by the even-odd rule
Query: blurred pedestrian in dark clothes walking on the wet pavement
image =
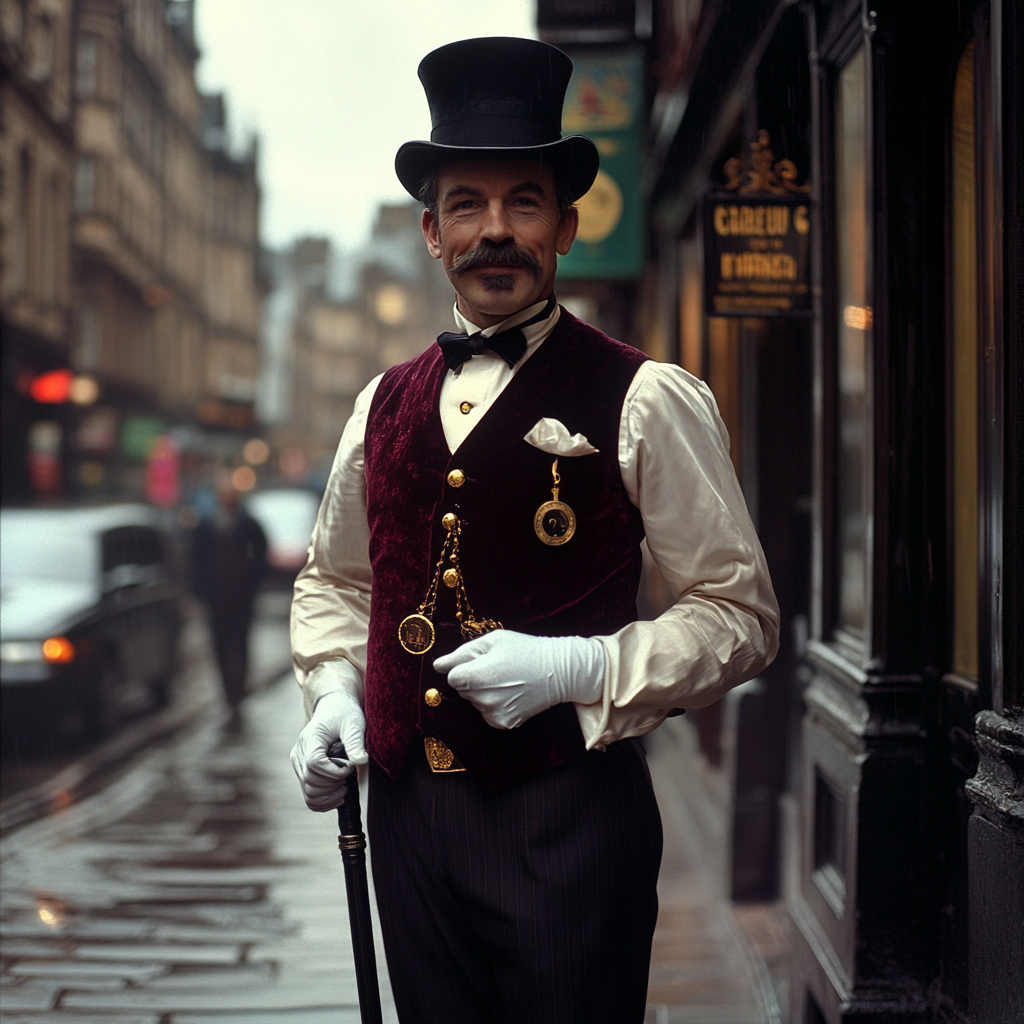
<path fill-rule="evenodd" d="M 193 590 L 207 607 L 229 725 L 240 724 L 246 695 L 249 628 L 256 591 L 266 572 L 266 538 L 242 507 L 229 476 L 217 481 L 217 506 L 193 534 Z"/>

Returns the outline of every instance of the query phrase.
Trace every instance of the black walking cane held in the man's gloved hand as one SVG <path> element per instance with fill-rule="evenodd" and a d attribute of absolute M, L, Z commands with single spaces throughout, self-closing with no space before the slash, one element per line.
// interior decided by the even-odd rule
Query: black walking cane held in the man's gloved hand
<path fill-rule="evenodd" d="M 329 758 L 345 760 L 339 740 L 331 744 Z M 345 864 L 345 892 L 348 895 L 348 924 L 352 930 L 355 983 L 359 992 L 362 1024 L 382 1024 L 381 992 L 377 984 L 377 954 L 374 952 L 374 923 L 370 916 L 370 885 L 367 882 L 367 837 L 359 817 L 359 780 L 353 771 L 345 786 L 345 802 L 338 808 L 338 846 Z"/>

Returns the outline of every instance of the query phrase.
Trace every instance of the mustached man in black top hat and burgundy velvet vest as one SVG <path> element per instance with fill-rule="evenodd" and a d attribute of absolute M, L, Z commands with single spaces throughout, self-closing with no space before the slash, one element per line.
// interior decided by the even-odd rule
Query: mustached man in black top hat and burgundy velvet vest
<path fill-rule="evenodd" d="M 296 583 L 307 804 L 369 760 L 402 1021 L 639 1022 L 662 834 L 634 737 L 774 656 L 778 612 L 708 389 L 561 309 L 593 144 L 554 47 L 420 66 L 397 155 L 458 333 L 373 381 Z M 636 622 L 640 542 L 676 604 Z M 338 737 L 348 761 L 335 765 Z"/>

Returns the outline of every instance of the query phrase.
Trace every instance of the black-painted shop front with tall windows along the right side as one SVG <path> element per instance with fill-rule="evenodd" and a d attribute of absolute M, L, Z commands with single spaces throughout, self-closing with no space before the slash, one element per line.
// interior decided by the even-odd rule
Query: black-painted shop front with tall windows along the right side
<path fill-rule="evenodd" d="M 712 387 L 782 610 L 688 716 L 731 895 L 784 905 L 795 1022 L 1021 1020 L 1020 14 L 740 13 L 652 104 L 634 316 Z"/>

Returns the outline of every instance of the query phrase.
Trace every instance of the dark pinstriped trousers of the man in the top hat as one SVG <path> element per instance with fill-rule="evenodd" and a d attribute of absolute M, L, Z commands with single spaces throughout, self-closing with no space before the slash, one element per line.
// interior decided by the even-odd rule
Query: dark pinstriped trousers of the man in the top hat
<path fill-rule="evenodd" d="M 640 1024 L 662 819 L 624 740 L 483 795 L 422 744 L 371 762 L 371 862 L 402 1024 Z"/>

